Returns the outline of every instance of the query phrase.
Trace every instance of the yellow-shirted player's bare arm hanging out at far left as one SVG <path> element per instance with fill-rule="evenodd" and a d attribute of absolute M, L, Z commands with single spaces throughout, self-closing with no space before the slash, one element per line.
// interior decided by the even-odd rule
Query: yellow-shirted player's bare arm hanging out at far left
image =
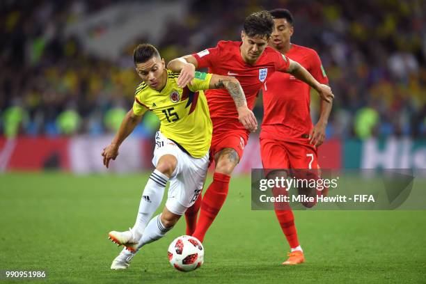
<path fill-rule="evenodd" d="M 125 118 L 121 122 L 120 128 L 114 136 L 111 144 L 104 148 L 102 151 L 102 157 L 104 157 L 104 166 L 109 167 L 109 161 L 111 159 L 115 160 L 118 156 L 118 148 L 120 148 L 121 143 L 126 139 L 129 134 L 132 133 L 134 127 L 138 125 L 142 120 L 142 116 L 136 116 L 134 114 L 133 109 L 130 109 L 129 112 L 126 113 Z"/>

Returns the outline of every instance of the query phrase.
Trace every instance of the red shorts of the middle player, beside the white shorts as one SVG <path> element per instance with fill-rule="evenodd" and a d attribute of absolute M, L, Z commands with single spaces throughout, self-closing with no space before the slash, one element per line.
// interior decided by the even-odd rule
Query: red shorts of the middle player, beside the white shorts
<path fill-rule="evenodd" d="M 213 134 L 212 145 L 210 145 L 210 159 L 223 148 L 234 149 L 241 161 L 244 147 L 247 145 L 248 133 L 244 129 L 230 129 L 219 134 Z"/>

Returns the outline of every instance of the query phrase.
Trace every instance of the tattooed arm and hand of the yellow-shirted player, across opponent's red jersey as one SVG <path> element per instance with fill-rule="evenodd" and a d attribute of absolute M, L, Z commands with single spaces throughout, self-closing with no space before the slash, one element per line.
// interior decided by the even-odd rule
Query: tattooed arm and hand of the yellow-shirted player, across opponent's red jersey
<path fill-rule="evenodd" d="M 256 120 L 253 111 L 248 109 L 246 95 L 244 95 L 244 90 L 237 79 L 213 74 L 209 87 L 226 88 L 235 102 L 235 107 L 237 107 L 239 122 L 251 132 L 258 129 L 258 120 Z"/>

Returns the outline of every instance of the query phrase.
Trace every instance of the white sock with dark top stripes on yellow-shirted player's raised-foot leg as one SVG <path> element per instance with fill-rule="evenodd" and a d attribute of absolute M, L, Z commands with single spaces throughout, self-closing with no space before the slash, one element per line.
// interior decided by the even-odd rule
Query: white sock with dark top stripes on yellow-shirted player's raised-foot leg
<path fill-rule="evenodd" d="M 141 203 L 139 204 L 139 212 L 136 217 L 136 222 L 132 230 L 134 236 L 139 239 L 143 235 L 143 231 L 150 221 L 152 214 L 159 207 L 161 200 L 163 199 L 164 189 L 168 182 L 167 175 L 160 171 L 153 171 L 148 179 L 148 182 L 143 189 Z"/>

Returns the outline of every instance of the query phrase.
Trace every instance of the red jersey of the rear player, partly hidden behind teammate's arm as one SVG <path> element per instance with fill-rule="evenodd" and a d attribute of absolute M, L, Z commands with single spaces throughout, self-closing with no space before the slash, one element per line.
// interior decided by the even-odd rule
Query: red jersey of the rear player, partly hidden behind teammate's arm
<path fill-rule="evenodd" d="M 288 58 L 301 64 L 321 84 L 329 79 L 315 50 L 292 45 Z M 310 86 L 292 74 L 276 72 L 263 86 L 264 115 L 260 138 L 307 143 L 310 119 Z"/>

